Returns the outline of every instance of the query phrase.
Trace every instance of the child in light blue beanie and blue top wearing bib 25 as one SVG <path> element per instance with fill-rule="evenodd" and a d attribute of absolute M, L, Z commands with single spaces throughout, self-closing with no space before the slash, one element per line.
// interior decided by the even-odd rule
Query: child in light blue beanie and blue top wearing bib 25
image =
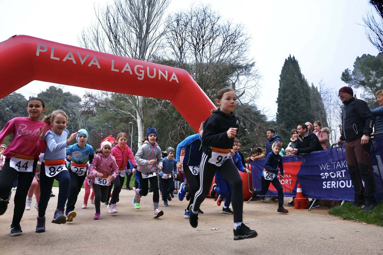
<path fill-rule="evenodd" d="M 69 163 L 70 190 L 67 208 L 65 210 L 68 222 L 73 221 L 73 218 L 76 217 L 74 207 L 77 202 L 77 196 L 87 176 L 87 162 L 89 161 L 91 164 L 93 161 L 93 147 L 86 143 L 88 137 L 88 132 L 85 129 L 80 129 L 76 136 L 77 143 L 67 147 L 66 153 L 70 155 L 71 158 L 71 162 Z"/>

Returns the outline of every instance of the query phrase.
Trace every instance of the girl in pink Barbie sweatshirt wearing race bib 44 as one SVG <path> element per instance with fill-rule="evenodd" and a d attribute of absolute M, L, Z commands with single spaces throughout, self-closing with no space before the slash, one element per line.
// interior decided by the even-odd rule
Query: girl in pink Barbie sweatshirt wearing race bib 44
<path fill-rule="evenodd" d="M 11 236 L 23 234 L 20 221 L 25 209 L 25 198 L 36 171 L 38 156 L 46 147 L 46 125 L 40 121 L 40 116 L 45 111 L 44 101 L 31 98 L 26 110 L 28 117 L 11 119 L 0 131 L 0 144 L 5 137 L 13 134 L 11 143 L 3 152 L 5 162 L 0 172 L 0 215 L 7 211 L 13 181 L 18 178 Z"/>

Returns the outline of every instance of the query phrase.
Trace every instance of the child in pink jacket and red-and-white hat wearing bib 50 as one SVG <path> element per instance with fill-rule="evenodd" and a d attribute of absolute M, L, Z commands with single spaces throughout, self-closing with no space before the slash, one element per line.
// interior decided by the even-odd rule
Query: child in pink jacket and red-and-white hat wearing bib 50
<path fill-rule="evenodd" d="M 112 144 L 109 141 L 101 143 L 96 151 L 89 173 L 93 176 L 93 189 L 95 191 L 96 213 L 93 219 L 100 219 L 100 202 L 105 202 L 108 196 L 108 186 L 118 175 L 118 165 L 115 157 L 111 155 Z"/>

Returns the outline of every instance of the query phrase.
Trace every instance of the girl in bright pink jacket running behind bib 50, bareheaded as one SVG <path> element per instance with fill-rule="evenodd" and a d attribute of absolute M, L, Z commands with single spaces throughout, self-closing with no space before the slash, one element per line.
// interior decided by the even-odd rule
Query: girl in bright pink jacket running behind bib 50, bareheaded
<path fill-rule="evenodd" d="M 113 180 L 115 188 L 113 189 L 112 199 L 108 205 L 109 213 L 116 213 L 117 211 L 117 201 L 118 196 L 121 191 L 122 185 L 124 184 L 126 166 L 128 165 L 128 160 L 132 162 L 134 167 L 137 167 L 136 161 L 134 161 L 134 155 L 132 150 L 126 145 L 128 141 L 128 136 L 124 132 L 120 132 L 117 135 L 118 144 L 112 148 L 111 153 L 116 159 L 118 165 L 118 178 Z"/>

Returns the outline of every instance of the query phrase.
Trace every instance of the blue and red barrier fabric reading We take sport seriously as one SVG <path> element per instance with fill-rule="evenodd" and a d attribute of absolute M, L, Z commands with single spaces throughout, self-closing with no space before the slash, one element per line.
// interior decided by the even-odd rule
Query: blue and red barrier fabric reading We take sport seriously
<path fill-rule="evenodd" d="M 370 158 L 376 185 L 375 198 L 377 201 L 383 201 L 383 136 L 371 141 Z M 285 156 L 282 160 L 285 173 L 280 183 L 285 196 L 296 196 L 296 184 L 300 183 L 307 198 L 354 201 L 354 188 L 347 168 L 345 146 Z M 251 161 L 250 164 L 253 188 L 261 189 L 260 179 L 265 159 Z M 277 196 L 273 185 L 270 184 L 265 196 Z"/>

